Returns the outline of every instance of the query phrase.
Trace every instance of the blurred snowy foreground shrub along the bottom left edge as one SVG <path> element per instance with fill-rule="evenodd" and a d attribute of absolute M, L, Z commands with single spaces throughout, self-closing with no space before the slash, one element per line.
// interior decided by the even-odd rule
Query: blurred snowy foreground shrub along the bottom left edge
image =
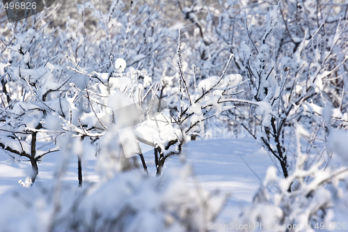
<path fill-rule="evenodd" d="M 3 194 L 0 231 L 203 231 L 224 196 L 188 187 L 191 169 L 161 178 L 120 173 L 83 188 L 57 180 Z"/>

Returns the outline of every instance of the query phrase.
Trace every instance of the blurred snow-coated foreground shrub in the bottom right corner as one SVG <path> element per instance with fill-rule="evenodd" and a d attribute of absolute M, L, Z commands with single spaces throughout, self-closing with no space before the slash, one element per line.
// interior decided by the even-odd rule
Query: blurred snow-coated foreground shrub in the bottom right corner
<path fill-rule="evenodd" d="M 265 228 L 261 224 L 267 231 L 347 229 L 348 169 L 325 164 L 324 159 L 306 167 L 309 156 L 301 152 L 301 131 L 297 127 L 293 172 L 282 178 L 276 167 L 269 167 L 253 204 L 238 218 L 240 224 L 259 225 L 255 231 Z"/>

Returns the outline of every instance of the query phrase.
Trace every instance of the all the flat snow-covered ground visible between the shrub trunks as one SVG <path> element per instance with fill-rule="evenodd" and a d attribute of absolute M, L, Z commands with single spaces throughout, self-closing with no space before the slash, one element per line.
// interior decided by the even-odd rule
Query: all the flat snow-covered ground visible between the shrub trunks
<path fill-rule="evenodd" d="M 35 184 L 44 184 L 53 179 L 57 155 L 58 153 L 52 153 L 42 160 Z M 150 175 L 155 175 L 153 151 L 145 153 L 144 156 Z M 31 170 L 29 162 L 16 164 L 9 160 L 8 155 L 1 150 L 0 197 L 11 187 L 17 187 L 19 180 L 24 181 Z M 95 162 L 95 158 L 92 154 L 84 159 L 84 181 L 97 179 L 93 162 Z M 192 165 L 197 183 L 203 189 L 230 193 L 230 198 L 219 215 L 218 222 L 221 223 L 231 222 L 240 208 L 251 203 L 267 167 L 272 164 L 267 152 L 258 148 L 255 140 L 249 137 L 189 141 L 184 146 L 182 155 L 172 156 L 166 160 L 165 168 L 177 167 L 183 163 Z M 76 183 L 77 186 L 77 157 L 72 157 L 70 160 L 65 180 Z"/>

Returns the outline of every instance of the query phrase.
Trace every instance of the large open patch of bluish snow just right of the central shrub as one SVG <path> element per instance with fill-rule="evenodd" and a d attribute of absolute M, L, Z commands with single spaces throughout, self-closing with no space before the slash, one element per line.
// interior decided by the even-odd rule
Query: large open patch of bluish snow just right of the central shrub
<path fill-rule="evenodd" d="M 258 148 L 252 138 L 190 141 L 184 154 L 193 165 L 201 187 L 230 193 L 219 217 L 223 222 L 252 201 L 267 167 L 272 164 L 267 152 Z M 172 157 L 166 166 L 178 165 L 178 161 Z"/>

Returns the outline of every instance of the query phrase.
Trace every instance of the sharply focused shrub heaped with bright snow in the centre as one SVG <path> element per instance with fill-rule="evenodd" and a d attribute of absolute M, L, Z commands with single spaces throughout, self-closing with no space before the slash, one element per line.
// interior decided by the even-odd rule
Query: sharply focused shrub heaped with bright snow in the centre
<path fill-rule="evenodd" d="M 229 109 L 224 105 L 223 96 L 233 94 L 242 80 L 240 75 L 226 74 L 232 58 L 233 55 L 230 55 L 220 77 L 209 77 L 189 86 L 182 69 L 179 35 L 177 61 L 179 72 L 173 77 L 164 76 L 152 85 L 147 81 L 148 76 L 139 70 L 130 69 L 130 72 L 125 73 L 87 72 L 88 67 L 81 68 L 76 63 L 74 65 L 77 68 L 70 69 L 98 81 L 91 86 L 93 91 L 82 90 L 76 86 L 75 88 L 80 93 L 86 92 L 90 107 L 93 107 L 93 114 L 89 116 L 97 119 L 100 129 L 109 130 L 106 124 L 110 124 L 110 117 L 116 124 L 114 129 L 119 133 L 127 127 L 127 141 L 122 141 L 126 157 L 129 157 L 129 153 L 139 154 L 142 157 L 143 151 L 139 147 L 139 142 L 150 145 L 159 153 L 159 157 L 155 158 L 157 174 L 160 174 L 167 157 L 179 155 L 182 145 L 189 141 L 193 134 L 204 134 L 203 122 L 207 118 L 219 116 Z M 140 79 L 140 77 L 143 78 Z M 120 112 L 120 109 L 126 110 L 125 108 L 131 105 L 134 106 L 133 113 Z M 106 115 L 106 122 L 99 118 L 103 114 Z M 120 118 L 121 114 L 125 114 L 123 119 L 122 116 Z M 132 116 L 135 118 L 130 119 L 129 117 Z M 122 125 L 124 121 L 129 120 L 136 123 Z M 65 123 L 68 122 L 65 121 Z M 90 127 L 87 121 L 84 125 L 86 125 L 85 130 L 96 129 Z M 66 127 L 70 126 L 70 123 L 66 124 Z M 79 127 L 74 127 L 74 131 L 81 136 L 102 137 L 104 135 L 102 133 L 87 134 Z M 142 160 L 142 162 L 147 171 L 145 161 Z M 106 162 L 106 165 L 109 164 Z"/>

